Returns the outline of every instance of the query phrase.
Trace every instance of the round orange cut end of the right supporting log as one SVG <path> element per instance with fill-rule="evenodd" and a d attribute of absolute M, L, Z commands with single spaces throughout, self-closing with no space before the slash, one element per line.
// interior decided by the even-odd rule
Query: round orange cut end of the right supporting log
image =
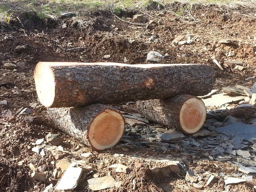
<path fill-rule="evenodd" d="M 198 98 L 188 99 L 180 110 L 180 128 L 183 132 L 193 134 L 199 131 L 206 119 L 206 107 Z"/>

